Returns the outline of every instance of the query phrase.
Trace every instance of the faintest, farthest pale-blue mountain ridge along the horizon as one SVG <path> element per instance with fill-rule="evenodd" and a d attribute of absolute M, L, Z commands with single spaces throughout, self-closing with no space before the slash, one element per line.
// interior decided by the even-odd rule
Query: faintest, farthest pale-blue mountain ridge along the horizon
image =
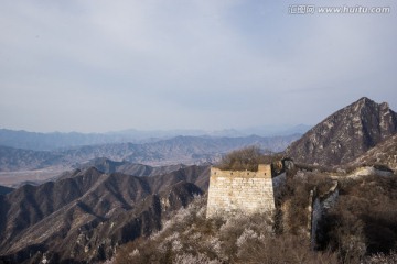
<path fill-rule="evenodd" d="M 242 130 L 171 130 L 171 131 L 139 131 L 126 130 L 109 133 L 37 133 L 29 131 L 14 131 L 0 129 L 0 145 L 33 151 L 55 151 L 60 148 L 78 147 L 84 145 L 100 145 L 116 143 L 150 143 L 185 136 L 211 136 L 211 138 L 245 138 L 251 134 L 259 136 L 276 136 L 304 133 L 309 125 L 266 125 Z"/>

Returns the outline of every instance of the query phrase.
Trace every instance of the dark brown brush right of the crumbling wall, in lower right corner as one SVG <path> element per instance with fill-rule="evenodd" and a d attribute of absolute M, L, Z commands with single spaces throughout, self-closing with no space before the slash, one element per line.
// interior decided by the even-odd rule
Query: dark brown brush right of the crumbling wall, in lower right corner
<path fill-rule="evenodd" d="M 339 251 L 344 263 L 389 254 L 397 245 L 396 177 L 341 182 L 337 204 L 325 216 L 322 248 Z"/>

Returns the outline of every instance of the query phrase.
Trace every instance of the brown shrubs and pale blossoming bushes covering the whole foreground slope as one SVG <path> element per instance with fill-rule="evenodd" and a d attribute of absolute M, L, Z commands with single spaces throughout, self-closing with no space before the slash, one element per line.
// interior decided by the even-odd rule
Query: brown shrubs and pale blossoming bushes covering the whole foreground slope
<path fill-rule="evenodd" d="M 289 205 L 280 232 L 266 213 L 206 219 L 206 198 L 197 197 L 161 231 L 120 246 L 115 263 L 396 263 L 397 177 L 341 180 L 335 206 L 319 223 L 319 251 L 310 250 L 309 194 L 332 184 L 319 172 L 288 177 L 277 202 Z"/>

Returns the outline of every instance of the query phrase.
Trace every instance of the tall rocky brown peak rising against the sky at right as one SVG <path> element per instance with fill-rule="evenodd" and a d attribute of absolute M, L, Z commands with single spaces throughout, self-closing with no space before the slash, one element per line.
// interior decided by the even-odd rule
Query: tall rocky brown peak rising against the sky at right
<path fill-rule="evenodd" d="M 309 130 L 286 153 L 300 163 L 346 164 L 396 132 L 397 113 L 388 103 L 363 97 Z"/>

